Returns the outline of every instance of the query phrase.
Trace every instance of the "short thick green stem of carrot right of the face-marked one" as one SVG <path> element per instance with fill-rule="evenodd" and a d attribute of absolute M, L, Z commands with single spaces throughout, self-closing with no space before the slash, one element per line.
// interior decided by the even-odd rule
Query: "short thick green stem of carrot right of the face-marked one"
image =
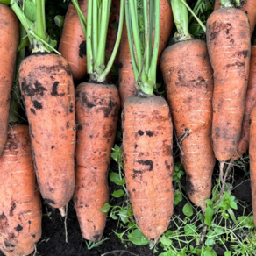
<path fill-rule="evenodd" d="M 174 12 L 174 23 L 177 28 L 177 32 L 174 35 L 175 41 L 192 39 L 192 36 L 188 32 L 188 9 L 183 3 L 184 0 L 171 0 Z"/>

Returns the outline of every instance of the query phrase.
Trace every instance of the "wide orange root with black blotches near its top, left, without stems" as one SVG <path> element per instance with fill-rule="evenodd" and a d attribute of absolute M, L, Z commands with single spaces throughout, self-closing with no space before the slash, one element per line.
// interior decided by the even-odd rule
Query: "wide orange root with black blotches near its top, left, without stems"
<path fill-rule="evenodd" d="M 67 60 L 31 55 L 20 65 L 19 84 L 30 124 L 39 188 L 53 208 L 75 188 L 75 89 Z"/>

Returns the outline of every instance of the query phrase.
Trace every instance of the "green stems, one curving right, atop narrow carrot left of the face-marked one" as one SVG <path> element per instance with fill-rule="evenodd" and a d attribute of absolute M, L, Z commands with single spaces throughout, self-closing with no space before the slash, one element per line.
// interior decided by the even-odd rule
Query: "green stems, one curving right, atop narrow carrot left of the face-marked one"
<path fill-rule="evenodd" d="M 110 19 L 111 0 L 88 0 L 87 20 L 79 8 L 77 0 L 72 0 L 78 11 L 82 30 L 86 37 L 87 70 L 91 81 L 104 82 L 117 55 L 124 24 L 124 0 L 120 4 L 120 19 L 117 40 L 110 60 L 105 66 L 105 46 Z"/>

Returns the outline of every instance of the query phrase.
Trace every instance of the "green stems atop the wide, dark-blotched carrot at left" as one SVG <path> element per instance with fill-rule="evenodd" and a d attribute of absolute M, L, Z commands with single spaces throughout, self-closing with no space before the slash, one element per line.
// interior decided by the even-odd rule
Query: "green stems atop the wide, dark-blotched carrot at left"
<path fill-rule="evenodd" d="M 45 0 L 23 1 L 21 7 L 18 2 L 18 0 L 11 0 L 11 9 L 25 27 L 32 53 L 52 51 L 58 53 L 54 49 L 56 41 L 51 40 L 46 34 Z"/>

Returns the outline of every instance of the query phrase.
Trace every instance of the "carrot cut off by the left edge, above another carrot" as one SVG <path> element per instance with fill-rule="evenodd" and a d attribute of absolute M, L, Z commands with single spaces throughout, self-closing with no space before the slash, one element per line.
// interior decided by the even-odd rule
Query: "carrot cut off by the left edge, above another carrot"
<path fill-rule="evenodd" d="M 11 87 L 19 39 L 18 18 L 11 9 L 0 4 L 0 155 L 7 139 Z"/>

